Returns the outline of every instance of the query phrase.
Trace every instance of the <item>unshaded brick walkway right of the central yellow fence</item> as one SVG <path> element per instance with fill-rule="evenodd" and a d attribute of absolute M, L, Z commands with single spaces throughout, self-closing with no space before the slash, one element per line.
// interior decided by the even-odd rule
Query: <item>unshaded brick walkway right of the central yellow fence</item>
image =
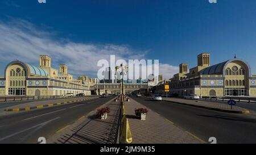
<path fill-rule="evenodd" d="M 148 110 L 146 120 L 135 117 L 134 109 L 145 107 L 131 99 L 125 103 L 133 144 L 199 144 L 204 141 L 174 125 L 154 111 Z"/>

